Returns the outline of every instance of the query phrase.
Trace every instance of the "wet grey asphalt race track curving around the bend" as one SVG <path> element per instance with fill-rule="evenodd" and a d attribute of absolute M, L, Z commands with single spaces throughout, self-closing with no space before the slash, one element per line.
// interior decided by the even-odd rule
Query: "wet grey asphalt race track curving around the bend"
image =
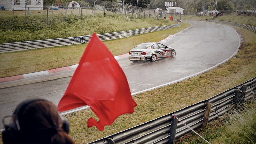
<path fill-rule="evenodd" d="M 132 94 L 197 75 L 225 62 L 237 52 L 240 38 L 233 28 L 202 21 L 186 22 L 192 26 L 164 43 L 176 50 L 175 58 L 153 63 L 130 62 L 128 57 L 117 60 L 126 74 Z M 44 98 L 57 105 L 73 72 L 52 75 L 58 77 L 64 74 L 69 77 L 0 89 L 0 119 L 11 115 L 15 107 L 28 98 Z M 2 123 L 0 129 L 3 129 Z"/>

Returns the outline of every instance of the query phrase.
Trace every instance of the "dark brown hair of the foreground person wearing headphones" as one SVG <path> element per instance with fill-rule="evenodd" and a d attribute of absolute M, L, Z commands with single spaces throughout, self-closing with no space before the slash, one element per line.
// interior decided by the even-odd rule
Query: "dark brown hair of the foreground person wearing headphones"
<path fill-rule="evenodd" d="M 52 102 L 31 102 L 17 115 L 20 126 L 18 143 L 74 143 L 63 130 L 63 118 Z"/>

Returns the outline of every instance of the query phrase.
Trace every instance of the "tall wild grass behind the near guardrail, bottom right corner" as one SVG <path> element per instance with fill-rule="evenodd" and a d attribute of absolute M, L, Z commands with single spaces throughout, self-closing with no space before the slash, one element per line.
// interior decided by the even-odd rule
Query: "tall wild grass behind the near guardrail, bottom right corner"
<path fill-rule="evenodd" d="M 225 144 L 256 143 L 256 92 L 254 98 L 243 105 L 232 107 L 223 116 L 225 130 L 220 133 L 218 141 Z M 217 131 L 218 132 L 218 131 Z"/>

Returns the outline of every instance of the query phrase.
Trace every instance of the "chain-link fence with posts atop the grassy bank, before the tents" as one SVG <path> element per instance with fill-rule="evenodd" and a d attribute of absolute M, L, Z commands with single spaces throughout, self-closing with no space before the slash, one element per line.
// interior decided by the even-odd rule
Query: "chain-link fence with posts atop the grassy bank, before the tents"
<path fill-rule="evenodd" d="M 110 1 L 100 1 L 100 0 L 86 0 L 86 1 L 77 1 L 76 5 L 72 5 L 72 2 L 68 3 L 51 3 L 44 4 L 43 7 L 35 7 L 31 5 L 26 5 L 24 8 L 5 8 L 13 11 L 13 15 L 9 14 L 7 16 L 25 16 L 30 15 L 47 15 L 47 24 L 49 23 L 49 19 L 52 20 L 51 17 L 53 15 L 62 15 L 67 20 L 69 16 L 86 16 L 86 15 L 124 15 L 127 20 L 131 18 L 151 18 L 151 19 L 169 19 L 170 15 L 174 15 L 175 13 L 167 13 L 166 10 L 159 9 L 146 9 L 141 7 L 136 7 L 129 4 L 123 4 L 122 2 L 110 2 Z M 20 11 L 23 10 L 23 11 Z M 137 11 L 136 11 L 137 10 Z M 25 11 L 25 12 L 24 12 Z M 180 14 L 176 14 L 180 15 Z M 166 18 L 167 17 L 167 18 Z M 174 20 L 180 21 L 180 17 L 174 17 Z M 46 18 L 44 18 L 46 19 Z M 50 20 L 50 21 L 51 21 Z"/>

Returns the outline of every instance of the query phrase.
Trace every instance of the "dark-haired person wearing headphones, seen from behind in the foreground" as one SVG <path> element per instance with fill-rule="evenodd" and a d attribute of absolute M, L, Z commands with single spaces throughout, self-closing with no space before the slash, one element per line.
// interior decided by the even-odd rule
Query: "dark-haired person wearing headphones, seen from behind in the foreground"
<path fill-rule="evenodd" d="M 12 123 L 4 127 L 3 143 L 74 143 L 68 136 L 67 119 L 59 114 L 53 103 L 43 99 L 19 104 Z"/>

